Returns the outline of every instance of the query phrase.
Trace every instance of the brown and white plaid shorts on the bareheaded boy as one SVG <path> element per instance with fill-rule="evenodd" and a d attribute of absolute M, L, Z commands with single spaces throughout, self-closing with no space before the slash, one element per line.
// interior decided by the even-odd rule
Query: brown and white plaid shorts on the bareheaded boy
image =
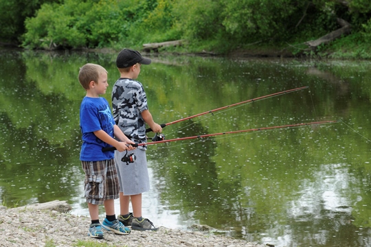
<path fill-rule="evenodd" d="M 119 198 L 120 185 L 115 160 L 81 161 L 85 172 L 85 198 L 91 204 Z"/>

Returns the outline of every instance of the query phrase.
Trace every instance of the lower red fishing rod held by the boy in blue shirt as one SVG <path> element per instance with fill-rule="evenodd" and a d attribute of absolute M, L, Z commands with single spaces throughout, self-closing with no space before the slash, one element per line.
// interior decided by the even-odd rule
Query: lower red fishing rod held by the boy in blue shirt
<path fill-rule="evenodd" d="M 299 126 L 313 126 L 313 125 L 319 125 L 319 124 L 335 124 L 339 122 L 339 120 L 329 120 L 329 121 L 316 121 L 311 123 L 302 123 L 302 124 L 289 124 L 284 126 L 271 126 L 271 127 L 263 127 L 263 128 L 252 128 L 249 130 L 235 130 L 235 131 L 229 131 L 229 132 L 220 132 L 220 133 L 214 133 L 214 134 L 201 134 L 198 136 L 193 137 L 181 137 L 176 139 L 169 139 L 169 140 L 162 140 L 162 141 L 152 141 L 149 143 L 135 143 L 131 144 L 133 147 L 138 147 L 142 145 L 153 145 L 153 144 L 159 144 L 159 143 L 168 143 L 171 141 L 183 141 L 188 139 L 197 139 L 197 138 L 205 138 L 205 137 L 214 137 L 221 134 L 236 134 L 236 133 L 242 133 L 242 132 L 254 132 L 254 131 L 261 131 L 261 130 L 273 130 L 273 129 L 282 129 L 282 128 L 293 128 L 293 127 L 299 127 Z M 110 148 L 102 148 L 102 151 L 113 151 L 116 150 L 115 147 Z"/>

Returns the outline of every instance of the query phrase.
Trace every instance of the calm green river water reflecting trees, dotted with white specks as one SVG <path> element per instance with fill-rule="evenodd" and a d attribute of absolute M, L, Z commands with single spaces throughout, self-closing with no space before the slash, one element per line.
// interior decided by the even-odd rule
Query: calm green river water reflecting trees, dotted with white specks
<path fill-rule="evenodd" d="M 87 62 L 105 67 L 110 86 L 102 97 L 111 102 L 115 56 L 0 51 L 3 205 L 67 200 L 71 213 L 89 215 L 77 75 Z M 150 58 L 138 80 L 159 124 L 307 87 L 166 126 L 166 139 L 254 131 L 149 145 L 144 217 L 279 247 L 371 245 L 370 62 Z M 256 130 L 329 120 L 336 123 Z"/>

